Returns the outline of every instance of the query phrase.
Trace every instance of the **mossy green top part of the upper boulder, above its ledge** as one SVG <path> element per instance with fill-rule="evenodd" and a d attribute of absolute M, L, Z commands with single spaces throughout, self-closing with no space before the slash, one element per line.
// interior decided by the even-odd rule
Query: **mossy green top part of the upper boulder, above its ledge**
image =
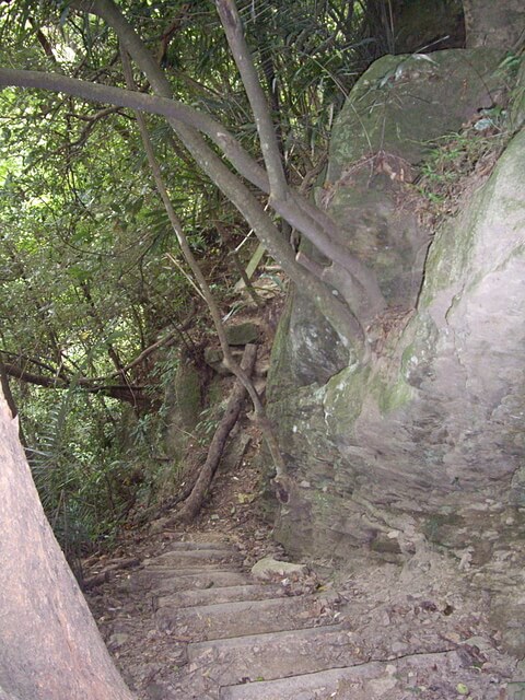
<path fill-rule="evenodd" d="M 503 56 L 482 48 L 380 58 L 337 119 L 328 182 L 337 183 L 346 168 L 380 150 L 419 163 L 430 140 L 457 131 L 478 109 L 492 106 Z"/>

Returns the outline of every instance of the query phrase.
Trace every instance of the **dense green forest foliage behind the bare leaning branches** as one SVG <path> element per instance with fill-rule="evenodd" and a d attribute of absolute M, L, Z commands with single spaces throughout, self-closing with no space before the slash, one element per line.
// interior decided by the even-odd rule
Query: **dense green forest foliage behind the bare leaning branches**
<path fill-rule="evenodd" d="M 77 5 L 1 3 L 1 63 L 125 86 L 115 33 Z M 121 8 L 177 97 L 213 115 L 260 160 L 212 3 Z M 304 191 L 324 165 L 334 115 L 384 51 L 388 25 L 374 8 L 240 3 L 287 177 Z M 148 81 L 136 80 L 148 92 Z M 228 253 L 249 226 L 166 121 L 148 122 L 171 200 L 225 311 L 238 277 Z M 137 498 L 151 498 L 165 469 L 155 459 L 177 348 L 197 355 L 210 323 L 179 260 L 132 112 L 5 88 L 0 132 L 2 385 L 20 411 L 49 518 L 71 546 L 107 536 Z M 288 235 L 288 224 L 276 222 Z M 248 241 L 244 261 L 252 250 Z"/>

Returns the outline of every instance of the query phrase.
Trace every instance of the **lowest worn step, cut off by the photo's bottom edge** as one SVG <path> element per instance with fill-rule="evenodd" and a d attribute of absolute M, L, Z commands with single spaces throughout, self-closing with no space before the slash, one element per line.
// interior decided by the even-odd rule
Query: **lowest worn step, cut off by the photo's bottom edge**
<path fill-rule="evenodd" d="M 446 688 L 443 677 L 447 678 Z M 457 684 L 479 684 L 479 669 L 467 668 L 455 651 L 374 661 L 277 680 L 223 686 L 220 700 L 404 700 L 441 679 L 440 698 L 463 697 Z M 486 682 L 487 679 L 482 679 Z M 438 686 L 440 687 L 440 686 Z M 475 687 L 472 685 L 472 687 Z M 416 696 L 415 696 L 416 697 Z M 436 696 L 438 697 L 438 696 Z M 477 696 L 476 696 L 477 697 Z M 490 696 L 479 696 L 486 697 Z M 495 696 L 494 696 L 495 697 Z"/>

